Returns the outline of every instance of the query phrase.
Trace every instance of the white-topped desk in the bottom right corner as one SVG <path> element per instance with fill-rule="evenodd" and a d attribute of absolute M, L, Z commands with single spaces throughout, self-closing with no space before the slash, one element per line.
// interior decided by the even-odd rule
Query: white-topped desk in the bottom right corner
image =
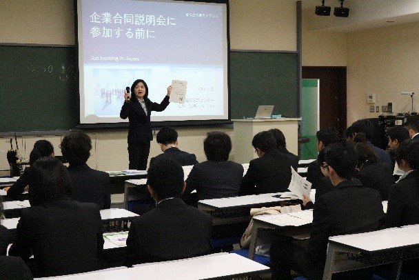
<path fill-rule="evenodd" d="M 334 272 L 385 263 L 395 263 L 394 279 L 398 279 L 402 261 L 419 257 L 418 232 L 419 225 L 413 225 L 329 237 L 323 280 L 331 279 Z"/>

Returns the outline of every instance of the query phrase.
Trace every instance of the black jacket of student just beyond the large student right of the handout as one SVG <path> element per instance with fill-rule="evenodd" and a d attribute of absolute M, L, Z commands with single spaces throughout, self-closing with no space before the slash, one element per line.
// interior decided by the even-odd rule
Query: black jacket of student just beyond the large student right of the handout
<path fill-rule="evenodd" d="M 378 190 L 382 200 L 387 200 L 390 187 L 394 183 L 393 170 L 386 163 L 366 162 L 355 177 L 362 182 L 362 186 Z"/>

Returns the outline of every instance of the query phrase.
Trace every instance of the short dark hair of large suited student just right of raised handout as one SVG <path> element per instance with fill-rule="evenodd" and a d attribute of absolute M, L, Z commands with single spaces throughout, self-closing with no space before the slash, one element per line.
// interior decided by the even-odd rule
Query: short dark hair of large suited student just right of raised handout
<path fill-rule="evenodd" d="M 325 161 L 340 178 L 351 180 L 356 168 L 356 150 L 354 143 L 341 139 L 325 148 Z"/>

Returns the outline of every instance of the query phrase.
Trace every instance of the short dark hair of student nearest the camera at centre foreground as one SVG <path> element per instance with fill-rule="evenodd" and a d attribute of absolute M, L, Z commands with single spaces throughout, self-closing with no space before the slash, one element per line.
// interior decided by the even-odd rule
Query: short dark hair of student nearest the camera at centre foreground
<path fill-rule="evenodd" d="M 180 197 L 183 190 L 183 168 L 174 159 L 154 161 L 147 171 L 147 185 L 161 199 Z"/>

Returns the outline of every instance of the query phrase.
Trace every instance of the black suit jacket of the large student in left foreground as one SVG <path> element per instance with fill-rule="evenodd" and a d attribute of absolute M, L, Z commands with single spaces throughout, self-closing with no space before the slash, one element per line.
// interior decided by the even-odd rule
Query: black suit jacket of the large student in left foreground
<path fill-rule="evenodd" d="M 36 277 L 97 270 L 103 249 L 99 208 L 94 203 L 52 199 L 21 212 L 11 256 L 34 255 Z"/>

